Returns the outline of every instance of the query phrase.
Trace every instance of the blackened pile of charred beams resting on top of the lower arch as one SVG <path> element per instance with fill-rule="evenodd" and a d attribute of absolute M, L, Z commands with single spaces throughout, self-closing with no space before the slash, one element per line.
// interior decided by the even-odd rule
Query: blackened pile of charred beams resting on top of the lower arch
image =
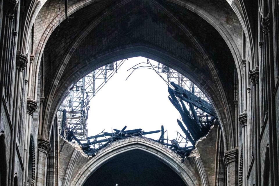
<path fill-rule="evenodd" d="M 83 152 L 85 152 L 87 155 L 94 156 L 96 155 L 97 151 L 103 149 L 114 141 L 133 136 L 145 137 L 145 135 L 161 132 L 160 138 L 158 140 L 151 138 L 148 139 L 167 146 L 169 149 L 180 155 L 183 162 L 184 158 L 187 157 L 193 149 L 195 149 L 196 142 L 208 134 L 211 126 L 217 122 L 217 119 L 214 117 L 215 112 L 212 108 L 212 105 L 196 96 L 194 94 L 194 87 L 192 88 L 192 92 L 190 92 L 173 82 L 171 82 L 171 86 L 174 89 L 168 87 L 168 92 L 170 95 L 169 100 L 181 115 L 184 125 L 178 119 L 177 123 L 186 137 L 183 137 L 179 132 L 177 132 L 178 135 L 176 139 L 169 140 L 168 137 L 164 138 L 165 133 L 167 132 L 167 130 L 164 131 L 164 126 L 161 126 L 161 130 L 149 132 L 145 132 L 141 128 L 126 130 L 127 126 L 125 126 L 122 128 L 122 130 L 113 129 L 114 132 L 111 131 L 111 133 L 102 131 L 98 135 L 87 137 L 86 143 L 81 143 L 81 141 L 74 135 L 75 129 L 69 129 L 66 131 L 66 139 L 69 141 L 75 140 L 81 146 Z M 187 109 L 184 102 L 188 104 L 189 110 Z M 199 118 L 196 112 L 197 109 L 208 113 L 211 116 L 210 119 L 207 114 L 205 115 L 206 119 Z M 190 144 L 188 142 L 190 142 Z"/>

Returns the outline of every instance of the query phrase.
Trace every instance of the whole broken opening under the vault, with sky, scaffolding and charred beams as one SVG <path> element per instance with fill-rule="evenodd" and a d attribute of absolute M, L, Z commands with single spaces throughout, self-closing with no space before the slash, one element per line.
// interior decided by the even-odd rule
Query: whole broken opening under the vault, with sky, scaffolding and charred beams
<path fill-rule="evenodd" d="M 208 98 L 194 83 L 143 57 L 115 61 L 87 74 L 70 88 L 58 117 L 61 136 L 88 155 L 113 141 L 142 136 L 183 159 L 217 123 Z"/>

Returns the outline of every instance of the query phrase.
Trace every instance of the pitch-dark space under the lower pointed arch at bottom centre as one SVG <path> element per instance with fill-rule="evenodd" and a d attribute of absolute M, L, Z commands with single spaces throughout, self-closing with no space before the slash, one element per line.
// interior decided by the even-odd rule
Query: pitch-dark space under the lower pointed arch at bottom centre
<path fill-rule="evenodd" d="M 97 169 L 84 186 L 185 186 L 170 167 L 141 150 L 132 150 Z"/>

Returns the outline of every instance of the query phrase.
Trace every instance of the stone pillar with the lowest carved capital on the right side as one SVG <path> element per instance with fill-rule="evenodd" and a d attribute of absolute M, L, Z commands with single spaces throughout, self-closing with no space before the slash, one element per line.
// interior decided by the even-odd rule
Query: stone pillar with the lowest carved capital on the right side
<path fill-rule="evenodd" d="M 227 186 L 237 186 L 238 185 L 238 148 L 227 151 L 224 156 L 224 164 L 226 167 Z"/>

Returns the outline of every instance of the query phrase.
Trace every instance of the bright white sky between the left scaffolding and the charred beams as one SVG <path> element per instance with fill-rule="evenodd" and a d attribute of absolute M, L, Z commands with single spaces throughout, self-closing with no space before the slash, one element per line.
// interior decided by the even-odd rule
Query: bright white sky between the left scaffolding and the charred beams
<path fill-rule="evenodd" d="M 181 116 L 168 99 L 167 84 L 153 70 L 137 69 L 125 81 L 131 73 L 131 70 L 127 71 L 129 68 L 146 61 L 147 58 L 143 57 L 126 60 L 91 99 L 88 136 L 102 130 L 111 132 L 111 128 L 121 130 L 125 125 L 126 130 L 141 128 L 144 131 L 161 130 L 161 125 L 164 125 L 170 140 L 176 139 L 176 131 L 183 134 L 176 122 Z M 160 133 L 146 137 L 159 139 Z"/>

